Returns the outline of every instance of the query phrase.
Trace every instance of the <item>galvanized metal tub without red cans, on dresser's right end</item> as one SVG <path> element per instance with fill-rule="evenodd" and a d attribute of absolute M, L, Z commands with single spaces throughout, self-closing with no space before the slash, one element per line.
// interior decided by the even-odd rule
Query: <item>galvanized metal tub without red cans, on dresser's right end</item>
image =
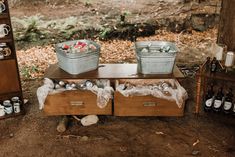
<path fill-rule="evenodd" d="M 142 74 L 171 74 L 179 49 L 172 42 L 140 41 L 135 43 L 137 70 Z"/>

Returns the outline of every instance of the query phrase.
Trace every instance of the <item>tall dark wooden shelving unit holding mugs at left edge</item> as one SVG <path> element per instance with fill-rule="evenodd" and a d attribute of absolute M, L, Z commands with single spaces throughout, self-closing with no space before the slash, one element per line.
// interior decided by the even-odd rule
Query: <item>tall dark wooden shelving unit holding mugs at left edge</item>
<path fill-rule="evenodd" d="M 11 49 L 11 54 L 0 60 L 0 104 L 3 105 L 4 100 L 11 100 L 12 97 L 19 97 L 21 100 L 21 112 L 13 113 L 0 117 L 0 119 L 18 116 L 24 113 L 23 94 L 20 83 L 19 69 L 16 57 L 15 43 L 13 37 L 13 29 L 9 13 L 8 1 L 4 0 L 6 10 L 0 13 L 0 24 L 10 26 L 9 34 L 0 38 L 0 43 L 6 43 Z"/>

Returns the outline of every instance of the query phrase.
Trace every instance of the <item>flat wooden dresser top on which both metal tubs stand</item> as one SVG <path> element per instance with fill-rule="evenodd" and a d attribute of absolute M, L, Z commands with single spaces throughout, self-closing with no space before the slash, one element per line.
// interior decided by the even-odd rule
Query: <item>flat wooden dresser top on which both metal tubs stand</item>
<path fill-rule="evenodd" d="M 54 64 L 46 70 L 44 77 L 51 79 L 179 79 L 184 78 L 184 75 L 177 66 L 174 67 L 172 74 L 143 75 L 137 72 L 137 64 L 101 64 L 97 70 L 71 75 Z"/>

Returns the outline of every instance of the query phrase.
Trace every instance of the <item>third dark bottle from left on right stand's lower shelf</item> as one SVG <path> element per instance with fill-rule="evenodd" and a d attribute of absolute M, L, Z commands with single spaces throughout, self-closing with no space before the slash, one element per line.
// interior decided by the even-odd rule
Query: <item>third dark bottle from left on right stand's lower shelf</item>
<path fill-rule="evenodd" d="M 233 107 L 233 92 L 232 88 L 229 88 L 229 92 L 226 94 L 224 103 L 223 103 L 223 112 L 229 114 Z"/>

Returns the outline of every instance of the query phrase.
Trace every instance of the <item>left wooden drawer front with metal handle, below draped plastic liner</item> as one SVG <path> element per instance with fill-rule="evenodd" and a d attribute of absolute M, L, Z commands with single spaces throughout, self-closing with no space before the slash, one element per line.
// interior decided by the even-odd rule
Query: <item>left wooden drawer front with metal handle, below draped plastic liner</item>
<path fill-rule="evenodd" d="M 45 101 L 46 115 L 112 115 L 112 100 L 105 108 L 97 106 L 97 96 L 91 91 L 65 91 L 48 95 Z"/>

